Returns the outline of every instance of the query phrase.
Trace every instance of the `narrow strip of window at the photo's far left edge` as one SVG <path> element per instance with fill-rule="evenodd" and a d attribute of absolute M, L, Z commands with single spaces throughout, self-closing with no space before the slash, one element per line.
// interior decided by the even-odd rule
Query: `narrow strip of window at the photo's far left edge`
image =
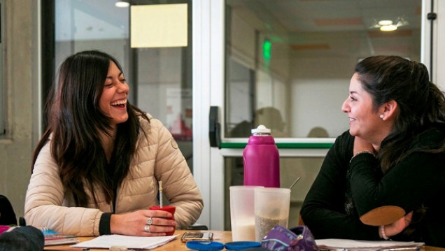
<path fill-rule="evenodd" d="M 6 133 L 5 131 L 5 113 L 6 113 L 6 94 L 5 87 L 4 87 L 4 69 L 3 69 L 3 62 L 4 62 L 4 23 L 5 23 L 5 15 L 4 15 L 4 1 L 0 0 L 0 136 L 4 135 Z"/>

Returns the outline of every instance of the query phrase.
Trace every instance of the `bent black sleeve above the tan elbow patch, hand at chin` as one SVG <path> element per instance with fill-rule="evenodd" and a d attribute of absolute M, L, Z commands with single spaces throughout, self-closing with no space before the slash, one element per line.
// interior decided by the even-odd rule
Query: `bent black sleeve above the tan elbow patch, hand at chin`
<path fill-rule="evenodd" d="M 406 213 L 428 199 L 439 198 L 444 186 L 444 157 L 414 152 L 379 178 L 376 161 L 358 156 L 351 162 L 351 189 L 360 215 L 379 206 L 400 206 Z"/>

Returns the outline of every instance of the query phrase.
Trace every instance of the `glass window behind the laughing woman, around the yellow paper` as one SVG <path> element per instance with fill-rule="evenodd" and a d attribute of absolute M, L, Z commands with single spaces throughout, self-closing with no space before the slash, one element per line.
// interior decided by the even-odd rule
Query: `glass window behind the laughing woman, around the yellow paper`
<path fill-rule="evenodd" d="M 113 55 L 124 69 L 130 87 L 129 101 L 161 120 L 176 138 L 192 168 L 191 1 L 130 2 L 132 6 L 154 7 L 160 4 L 186 3 L 188 45 L 132 48 L 132 6 L 118 7 L 116 1 L 109 0 L 57 0 L 55 69 L 59 68 L 66 57 L 81 50 L 102 50 Z M 157 27 L 160 26 L 162 23 L 157 24 Z"/>

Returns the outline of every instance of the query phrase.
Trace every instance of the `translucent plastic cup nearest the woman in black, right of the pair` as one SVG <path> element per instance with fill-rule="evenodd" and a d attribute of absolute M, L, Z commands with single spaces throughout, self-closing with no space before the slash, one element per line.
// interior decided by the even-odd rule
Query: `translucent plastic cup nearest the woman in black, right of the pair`
<path fill-rule="evenodd" d="M 255 241 L 261 241 L 276 225 L 288 228 L 290 189 L 255 189 Z"/>

